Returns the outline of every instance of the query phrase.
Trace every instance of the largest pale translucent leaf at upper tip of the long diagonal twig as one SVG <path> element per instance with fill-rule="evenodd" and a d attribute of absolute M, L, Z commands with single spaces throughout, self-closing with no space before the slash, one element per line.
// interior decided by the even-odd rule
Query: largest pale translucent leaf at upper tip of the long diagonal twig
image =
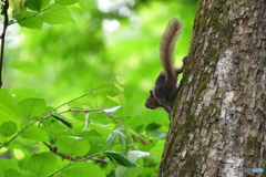
<path fill-rule="evenodd" d="M 102 93 L 109 96 L 116 96 L 121 94 L 121 91 L 110 82 L 105 82 L 100 79 L 92 79 L 89 81 L 90 90 L 95 91 L 96 93 Z"/>

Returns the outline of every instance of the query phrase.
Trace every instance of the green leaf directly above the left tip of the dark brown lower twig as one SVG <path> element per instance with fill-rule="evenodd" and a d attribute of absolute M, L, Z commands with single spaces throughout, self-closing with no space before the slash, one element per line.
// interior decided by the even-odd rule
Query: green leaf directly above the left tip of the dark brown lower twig
<path fill-rule="evenodd" d="M 29 128 L 27 128 L 22 134 L 21 137 L 33 139 L 33 140 L 40 140 L 40 142 L 49 142 L 49 137 L 47 132 L 43 129 L 32 125 Z"/>

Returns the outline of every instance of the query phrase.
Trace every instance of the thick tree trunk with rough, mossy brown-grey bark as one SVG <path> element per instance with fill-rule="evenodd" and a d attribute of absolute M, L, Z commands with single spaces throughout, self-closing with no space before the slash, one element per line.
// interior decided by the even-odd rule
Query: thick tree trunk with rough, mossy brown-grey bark
<path fill-rule="evenodd" d="M 188 58 L 158 176 L 263 176 L 266 1 L 200 0 Z"/>

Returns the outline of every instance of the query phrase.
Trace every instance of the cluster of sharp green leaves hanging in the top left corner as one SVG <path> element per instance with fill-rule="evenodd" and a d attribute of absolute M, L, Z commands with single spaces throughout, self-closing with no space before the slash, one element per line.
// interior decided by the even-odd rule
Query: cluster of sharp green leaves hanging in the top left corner
<path fill-rule="evenodd" d="M 41 29 L 43 23 L 60 24 L 73 22 L 73 18 L 65 6 L 79 0 L 12 0 L 12 23 L 30 29 Z"/>

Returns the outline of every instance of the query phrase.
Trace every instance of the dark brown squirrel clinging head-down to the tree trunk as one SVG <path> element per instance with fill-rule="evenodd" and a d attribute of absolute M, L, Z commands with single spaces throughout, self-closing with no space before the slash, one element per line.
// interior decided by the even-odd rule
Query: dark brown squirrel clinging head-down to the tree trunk
<path fill-rule="evenodd" d="M 163 71 L 160 73 L 153 90 L 150 90 L 150 96 L 145 102 L 146 108 L 155 110 L 163 107 L 168 115 L 171 115 L 177 94 L 178 74 L 183 72 L 187 62 L 187 56 L 185 56 L 182 60 L 182 66 L 174 67 L 174 48 L 181 31 L 181 20 L 175 17 L 168 22 L 160 42 L 160 60 Z"/>

